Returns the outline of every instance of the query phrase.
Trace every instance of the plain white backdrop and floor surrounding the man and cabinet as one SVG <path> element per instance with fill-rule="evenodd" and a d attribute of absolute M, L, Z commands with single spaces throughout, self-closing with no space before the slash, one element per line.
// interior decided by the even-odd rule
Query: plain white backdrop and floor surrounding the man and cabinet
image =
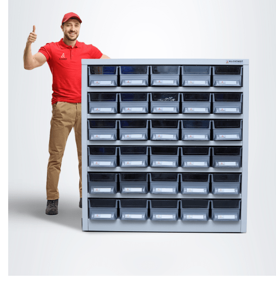
<path fill-rule="evenodd" d="M 9 275 L 274 275 L 276 1 L 9 1 Z M 111 58 L 249 58 L 249 178 L 245 234 L 81 231 L 78 161 L 68 138 L 59 214 L 45 215 L 52 75 L 24 70 L 32 51 L 62 38 L 77 13 L 78 40 Z"/>

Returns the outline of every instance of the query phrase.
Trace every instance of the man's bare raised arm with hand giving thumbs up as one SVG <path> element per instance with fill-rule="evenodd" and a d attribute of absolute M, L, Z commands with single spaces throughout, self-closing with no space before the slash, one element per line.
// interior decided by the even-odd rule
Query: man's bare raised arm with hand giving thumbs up
<path fill-rule="evenodd" d="M 32 70 L 39 66 L 42 66 L 45 62 L 47 62 L 47 58 L 41 52 L 37 52 L 35 55 L 32 55 L 31 44 L 36 40 L 35 26 L 33 27 L 33 31 L 29 34 L 26 48 L 24 50 L 24 69 Z"/>

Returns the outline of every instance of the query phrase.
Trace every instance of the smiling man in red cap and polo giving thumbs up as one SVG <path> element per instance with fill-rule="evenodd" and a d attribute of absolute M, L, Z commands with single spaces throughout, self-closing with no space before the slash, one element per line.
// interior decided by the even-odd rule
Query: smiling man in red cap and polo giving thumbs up
<path fill-rule="evenodd" d="M 47 168 L 47 208 L 48 215 L 58 214 L 58 180 L 61 161 L 72 128 L 75 131 L 79 160 L 79 190 L 82 208 L 81 185 L 81 59 L 109 58 L 93 45 L 78 42 L 81 19 L 75 13 L 64 15 L 61 23 L 63 38 L 49 43 L 32 55 L 31 44 L 36 40 L 35 26 L 30 33 L 24 51 L 24 68 L 32 70 L 46 61 L 53 75 L 52 119 L 49 141 L 49 163 Z"/>

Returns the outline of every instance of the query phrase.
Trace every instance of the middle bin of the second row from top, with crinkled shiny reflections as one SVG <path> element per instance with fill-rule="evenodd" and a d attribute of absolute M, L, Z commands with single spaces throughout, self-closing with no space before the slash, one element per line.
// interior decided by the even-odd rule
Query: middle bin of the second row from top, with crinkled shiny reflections
<path fill-rule="evenodd" d="M 151 93 L 151 113 L 179 113 L 180 93 Z"/>

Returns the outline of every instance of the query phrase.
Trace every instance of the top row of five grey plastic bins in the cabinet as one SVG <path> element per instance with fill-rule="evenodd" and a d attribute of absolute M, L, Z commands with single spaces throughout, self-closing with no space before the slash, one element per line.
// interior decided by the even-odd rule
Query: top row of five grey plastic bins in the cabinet
<path fill-rule="evenodd" d="M 242 69 L 241 66 L 195 65 L 88 66 L 88 86 L 241 87 Z"/>

